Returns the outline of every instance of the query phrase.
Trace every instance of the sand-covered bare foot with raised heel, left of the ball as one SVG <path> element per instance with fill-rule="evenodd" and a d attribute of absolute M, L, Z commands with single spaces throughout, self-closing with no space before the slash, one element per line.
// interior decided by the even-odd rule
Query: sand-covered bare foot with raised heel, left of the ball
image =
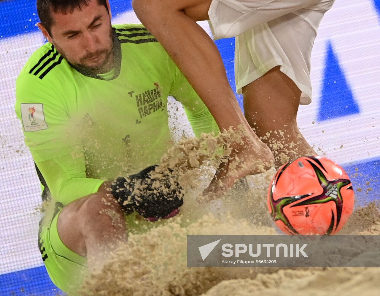
<path fill-rule="evenodd" d="M 257 138 L 258 139 L 258 138 Z M 199 203 L 206 203 L 218 199 L 231 188 L 237 180 L 247 176 L 261 174 L 274 166 L 274 157 L 271 150 L 259 139 L 249 145 L 249 148 L 233 145 L 231 154 L 222 160 L 210 185 L 199 196 Z"/>

